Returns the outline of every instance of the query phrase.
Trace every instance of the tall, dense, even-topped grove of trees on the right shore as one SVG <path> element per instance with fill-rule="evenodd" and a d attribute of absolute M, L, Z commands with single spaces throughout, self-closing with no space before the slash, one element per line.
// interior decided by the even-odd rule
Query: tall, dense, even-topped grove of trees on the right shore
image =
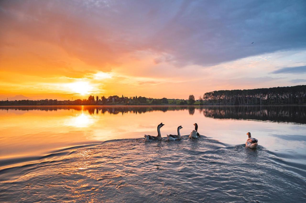
<path fill-rule="evenodd" d="M 306 85 L 252 90 L 219 90 L 199 98 L 201 105 L 305 104 Z"/>

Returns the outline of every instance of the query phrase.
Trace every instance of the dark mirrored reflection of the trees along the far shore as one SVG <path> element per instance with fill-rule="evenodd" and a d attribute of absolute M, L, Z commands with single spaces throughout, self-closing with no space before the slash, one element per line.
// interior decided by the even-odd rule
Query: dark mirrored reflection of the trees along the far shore
<path fill-rule="evenodd" d="M 205 117 L 216 119 L 249 119 L 261 121 L 306 123 L 306 106 L 2 106 L 1 110 L 42 110 L 58 109 L 88 111 L 89 114 L 146 113 L 152 111 L 188 110 L 193 115 L 197 110 Z"/>

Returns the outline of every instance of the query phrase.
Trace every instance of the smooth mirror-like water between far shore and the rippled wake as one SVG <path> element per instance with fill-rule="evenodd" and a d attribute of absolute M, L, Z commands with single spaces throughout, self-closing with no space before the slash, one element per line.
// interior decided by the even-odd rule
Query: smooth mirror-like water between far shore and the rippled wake
<path fill-rule="evenodd" d="M 277 149 L 285 145 L 300 151 L 305 141 L 288 142 L 277 135 L 303 136 L 305 109 L 301 106 L 0 107 L 0 159 L 40 156 L 64 147 L 155 135 L 160 122 L 166 124 L 161 129 L 162 136 L 176 133 L 178 125 L 183 126 L 181 134 L 187 135 L 194 127 L 192 124 L 198 123 L 201 134 L 227 145 L 243 144 L 245 133 L 252 132 L 264 147 Z"/>

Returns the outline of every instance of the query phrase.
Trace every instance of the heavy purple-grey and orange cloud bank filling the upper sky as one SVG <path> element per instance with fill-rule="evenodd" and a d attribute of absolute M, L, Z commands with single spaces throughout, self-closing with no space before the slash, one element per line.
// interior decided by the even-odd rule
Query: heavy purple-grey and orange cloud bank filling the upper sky
<path fill-rule="evenodd" d="M 152 51 L 164 55 L 156 63 L 208 66 L 306 48 L 304 0 L 24 0 L 2 1 L 0 7 L 0 34 L 17 30 L 56 42 L 88 62 L 116 62 L 121 54 Z M 295 69 L 274 73 L 286 71 Z M 301 69 L 296 67 L 296 71 Z"/>

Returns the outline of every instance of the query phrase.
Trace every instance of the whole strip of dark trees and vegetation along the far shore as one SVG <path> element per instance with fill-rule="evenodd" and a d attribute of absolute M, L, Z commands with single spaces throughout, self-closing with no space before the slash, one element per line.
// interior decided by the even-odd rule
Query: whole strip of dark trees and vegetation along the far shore
<path fill-rule="evenodd" d="M 207 92 L 196 100 L 194 95 L 188 99 L 155 99 L 146 97 L 89 96 L 76 100 L 2 100 L 0 106 L 62 106 L 62 105 L 305 105 L 306 85 L 291 87 L 272 87 L 251 90 L 218 90 Z"/>

